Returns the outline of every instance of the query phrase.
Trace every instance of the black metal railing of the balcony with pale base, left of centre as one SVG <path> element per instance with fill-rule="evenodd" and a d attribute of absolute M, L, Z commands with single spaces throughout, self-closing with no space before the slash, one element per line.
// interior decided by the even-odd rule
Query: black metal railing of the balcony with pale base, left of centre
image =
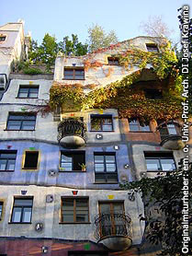
<path fill-rule="evenodd" d="M 60 142 L 65 136 L 80 136 L 86 142 L 86 125 L 80 119 L 64 119 L 58 125 L 58 136 L 57 139 Z"/>

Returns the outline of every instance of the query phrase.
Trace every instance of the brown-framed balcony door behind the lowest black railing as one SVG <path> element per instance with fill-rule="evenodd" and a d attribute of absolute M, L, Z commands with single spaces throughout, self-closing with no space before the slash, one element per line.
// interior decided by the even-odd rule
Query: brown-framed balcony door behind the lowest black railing
<path fill-rule="evenodd" d="M 101 237 L 126 233 L 123 202 L 99 203 Z"/>

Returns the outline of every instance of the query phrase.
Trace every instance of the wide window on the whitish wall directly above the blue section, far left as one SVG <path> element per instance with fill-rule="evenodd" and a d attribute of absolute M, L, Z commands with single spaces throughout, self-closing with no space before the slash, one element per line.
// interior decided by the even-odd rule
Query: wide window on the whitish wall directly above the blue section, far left
<path fill-rule="evenodd" d="M 13 131 L 34 131 L 35 123 L 35 113 L 9 113 L 6 129 Z"/>

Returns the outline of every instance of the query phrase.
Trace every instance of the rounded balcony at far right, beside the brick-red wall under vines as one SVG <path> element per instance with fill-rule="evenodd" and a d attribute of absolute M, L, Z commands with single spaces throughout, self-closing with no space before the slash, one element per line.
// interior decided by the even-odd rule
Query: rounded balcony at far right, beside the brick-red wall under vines
<path fill-rule="evenodd" d="M 160 145 L 165 149 L 182 149 L 185 144 L 182 142 L 181 126 L 178 122 L 162 122 L 157 127 L 161 136 Z"/>

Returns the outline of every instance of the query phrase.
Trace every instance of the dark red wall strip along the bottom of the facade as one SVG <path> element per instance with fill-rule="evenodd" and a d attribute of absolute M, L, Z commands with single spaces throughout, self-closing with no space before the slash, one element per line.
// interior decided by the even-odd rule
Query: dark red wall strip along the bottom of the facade
<path fill-rule="evenodd" d="M 43 253 L 42 247 L 48 247 Z M 68 256 L 68 251 L 107 251 L 101 244 L 92 242 L 65 242 L 53 239 L 0 239 L 0 254 L 7 256 Z M 137 248 L 108 252 L 108 256 L 139 256 Z"/>

